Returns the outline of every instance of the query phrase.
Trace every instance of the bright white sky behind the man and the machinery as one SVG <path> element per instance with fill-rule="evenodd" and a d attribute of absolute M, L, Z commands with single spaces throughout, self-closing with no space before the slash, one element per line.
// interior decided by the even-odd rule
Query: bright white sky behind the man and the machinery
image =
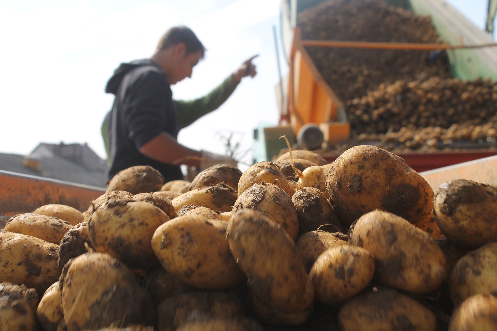
<path fill-rule="evenodd" d="M 487 0 L 448 2 L 484 27 Z M 237 132 L 241 150 L 250 149 L 258 123 L 278 121 L 272 26 L 279 29 L 279 3 L 0 0 L 0 152 L 28 154 L 39 142 L 87 142 L 105 158 L 100 125 L 113 101 L 104 93 L 107 79 L 121 62 L 152 55 L 161 35 L 179 24 L 192 28 L 208 51 L 192 79 L 172 87 L 176 99 L 208 93 L 260 54 L 257 76 L 245 78 L 217 111 L 182 130 L 179 142 L 223 153 L 218 133 Z M 250 162 L 251 154 L 244 160 Z"/>

